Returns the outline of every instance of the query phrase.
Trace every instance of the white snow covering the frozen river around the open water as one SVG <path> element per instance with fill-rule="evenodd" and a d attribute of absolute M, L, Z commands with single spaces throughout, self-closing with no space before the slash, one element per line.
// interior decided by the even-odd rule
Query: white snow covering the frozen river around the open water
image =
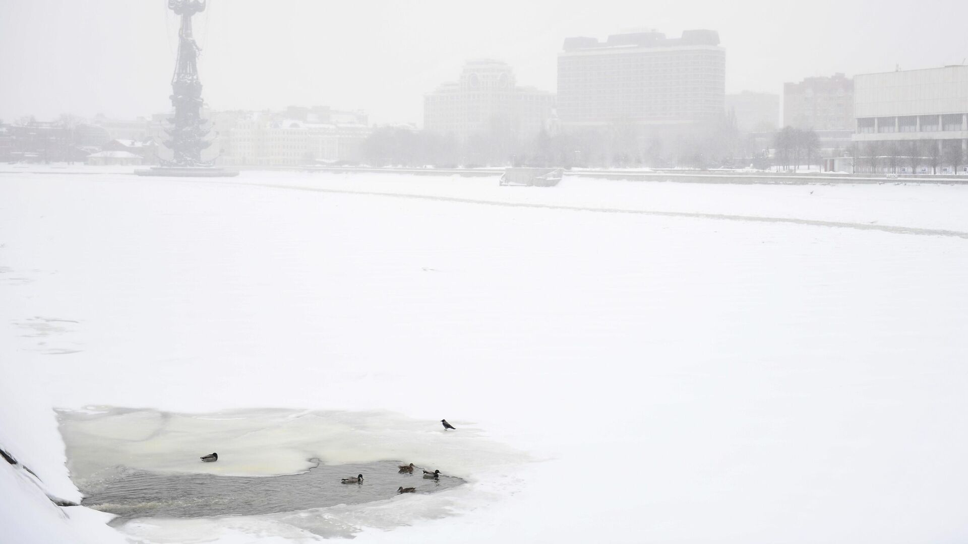
<path fill-rule="evenodd" d="M 966 207 L 945 185 L 0 174 L 0 447 L 48 493 L 79 499 L 51 408 L 89 405 L 318 410 L 333 419 L 291 432 L 254 413 L 262 435 L 227 446 L 251 456 L 239 471 L 419 456 L 469 481 L 115 533 L 0 463 L 19 482 L 0 525 L 41 542 L 964 541 Z M 218 420 L 184 417 L 174 431 L 199 437 Z M 156 469 L 219 450 L 152 444 L 118 449 Z"/>

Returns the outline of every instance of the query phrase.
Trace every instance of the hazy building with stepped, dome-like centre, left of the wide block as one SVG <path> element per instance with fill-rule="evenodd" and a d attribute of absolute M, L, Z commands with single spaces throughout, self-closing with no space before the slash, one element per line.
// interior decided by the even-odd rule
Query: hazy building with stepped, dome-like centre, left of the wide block
<path fill-rule="evenodd" d="M 547 128 L 555 95 L 519 87 L 507 64 L 470 60 L 455 82 L 424 95 L 424 129 L 466 140 L 473 134 L 530 138 Z"/>

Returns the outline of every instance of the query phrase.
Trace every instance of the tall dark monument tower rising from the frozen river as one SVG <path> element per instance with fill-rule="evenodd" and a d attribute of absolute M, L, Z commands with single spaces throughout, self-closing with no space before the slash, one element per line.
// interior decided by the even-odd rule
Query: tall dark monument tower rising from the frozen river
<path fill-rule="evenodd" d="M 175 116 L 172 127 L 166 130 L 170 139 L 165 145 L 174 153 L 170 166 L 211 166 L 202 161 L 201 152 L 211 141 L 206 141 L 208 130 L 201 119 L 201 80 L 198 78 L 198 51 L 192 35 L 192 15 L 205 11 L 206 0 L 168 0 L 168 9 L 181 16 L 178 30 L 178 59 L 171 77 L 171 105 Z"/>

